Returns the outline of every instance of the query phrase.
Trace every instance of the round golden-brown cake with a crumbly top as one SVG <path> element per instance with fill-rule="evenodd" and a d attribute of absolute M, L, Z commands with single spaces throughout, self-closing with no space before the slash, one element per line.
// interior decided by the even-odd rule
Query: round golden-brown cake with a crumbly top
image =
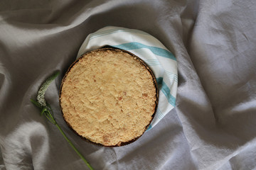
<path fill-rule="evenodd" d="M 130 52 L 102 48 L 82 55 L 60 86 L 63 118 L 80 137 L 107 147 L 137 140 L 158 103 L 154 74 Z"/>

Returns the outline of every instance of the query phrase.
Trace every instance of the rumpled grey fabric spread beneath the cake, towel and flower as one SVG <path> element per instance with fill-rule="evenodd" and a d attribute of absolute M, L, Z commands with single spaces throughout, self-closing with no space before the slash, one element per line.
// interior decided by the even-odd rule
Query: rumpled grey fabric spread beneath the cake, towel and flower
<path fill-rule="evenodd" d="M 255 169 L 256 2 L 0 1 L 0 169 L 87 169 L 29 99 L 46 100 L 95 169 Z M 176 57 L 176 108 L 137 142 L 84 142 L 61 117 L 60 80 L 89 33 L 143 30 Z"/>

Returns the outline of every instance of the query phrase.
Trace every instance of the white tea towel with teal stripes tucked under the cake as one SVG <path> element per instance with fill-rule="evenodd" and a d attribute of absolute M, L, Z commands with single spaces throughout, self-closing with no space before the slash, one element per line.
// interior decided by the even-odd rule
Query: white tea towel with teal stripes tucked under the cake
<path fill-rule="evenodd" d="M 175 106 L 178 86 L 176 58 L 148 33 L 114 26 L 107 26 L 88 35 L 80 47 L 78 57 L 106 45 L 132 52 L 154 72 L 159 87 L 159 106 L 148 130 L 153 128 Z"/>

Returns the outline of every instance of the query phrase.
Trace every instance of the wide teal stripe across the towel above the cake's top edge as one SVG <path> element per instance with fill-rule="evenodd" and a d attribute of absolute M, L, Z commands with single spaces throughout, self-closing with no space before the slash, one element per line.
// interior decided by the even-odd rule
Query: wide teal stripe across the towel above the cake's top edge
<path fill-rule="evenodd" d="M 159 47 L 144 45 L 139 42 L 128 42 L 128 43 L 124 43 L 121 45 L 112 45 L 112 46 L 120 48 L 122 50 L 136 50 L 136 49 L 140 49 L 140 48 L 147 48 L 147 49 L 151 50 L 151 52 L 153 52 L 155 55 L 159 55 L 161 57 L 166 57 L 166 58 L 176 61 L 176 58 L 174 57 L 174 55 L 171 52 L 169 52 L 168 50 L 165 50 L 165 49 L 159 48 Z"/>

